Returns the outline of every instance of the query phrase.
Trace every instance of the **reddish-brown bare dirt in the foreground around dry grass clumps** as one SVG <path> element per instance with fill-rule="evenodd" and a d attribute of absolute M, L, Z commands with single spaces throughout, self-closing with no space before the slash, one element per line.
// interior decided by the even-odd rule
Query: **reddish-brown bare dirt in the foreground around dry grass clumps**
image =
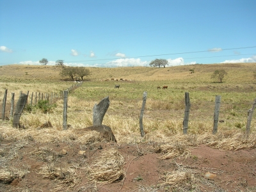
<path fill-rule="evenodd" d="M 15 142 L 17 144 L 18 141 Z M 13 143 L 1 142 L 1 147 L 6 152 L 11 150 Z M 100 149 L 99 146 L 102 148 Z M 92 184 L 81 171 L 81 181 L 74 188 L 61 188 L 57 179 L 47 179 L 38 173 L 39 168 L 45 164 L 40 158 L 31 156 L 36 148 L 47 147 L 52 151 L 60 152 L 67 150 L 59 158 L 60 164 L 79 164 L 83 167 L 90 164 L 104 150 L 115 148 L 125 159 L 125 178 L 110 184 Z M 79 155 L 81 146 L 74 143 L 39 144 L 31 141 L 23 145 L 15 158 L 8 164 L 10 166 L 29 166 L 29 173 L 22 179 L 14 179 L 10 183 L 0 182 L 0 191 L 172 191 L 172 188 L 161 187 L 163 177 L 168 172 L 179 168 L 191 170 L 203 182 L 197 182 L 197 191 L 256 191 L 256 148 L 250 150 L 224 151 L 200 145 L 197 148 L 189 148 L 191 157 L 188 159 L 165 159 L 161 160 L 161 154 L 153 150 L 152 145 L 127 145 L 113 143 L 95 143 L 90 148 L 90 154 Z M 2 154 L 4 156 L 4 154 Z M 0 166 L 0 169 L 3 167 Z M 213 180 L 204 179 L 205 173 L 216 174 Z M 60 187 L 60 188 L 58 188 Z M 59 190 L 58 190 L 59 189 Z"/>

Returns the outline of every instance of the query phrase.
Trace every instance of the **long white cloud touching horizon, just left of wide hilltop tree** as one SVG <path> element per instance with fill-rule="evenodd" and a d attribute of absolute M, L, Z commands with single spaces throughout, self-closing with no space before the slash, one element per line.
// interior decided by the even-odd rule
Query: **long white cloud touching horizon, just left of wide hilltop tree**
<path fill-rule="evenodd" d="M 141 61 L 140 59 L 126 58 L 109 61 L 104 67 L 134 67 L 134 66 L 147 66 L 148 61 Z"/>

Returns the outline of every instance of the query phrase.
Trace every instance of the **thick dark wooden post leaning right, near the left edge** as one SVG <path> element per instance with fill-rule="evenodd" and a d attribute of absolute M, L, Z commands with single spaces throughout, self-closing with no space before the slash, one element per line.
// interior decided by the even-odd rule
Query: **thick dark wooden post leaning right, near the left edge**
<path fill-rule="evenodd" d="M 20 127 L 20 116 L 25 107 L 27 100 L 28 100 L 28 95 L 21 93 L 15 108 L 15 113 L 13 115 L 13 123 L 12 123 L 13 127 L 16 127 L 16 128 Z"/>

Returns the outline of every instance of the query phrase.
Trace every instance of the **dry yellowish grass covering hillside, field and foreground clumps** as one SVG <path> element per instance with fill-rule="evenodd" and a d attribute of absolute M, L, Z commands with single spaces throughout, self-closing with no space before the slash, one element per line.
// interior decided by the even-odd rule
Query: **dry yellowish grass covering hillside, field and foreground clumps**
<path fill-rule="evenodd" d="M 43 66 L 14 66 L 15 72 L 10 76 L 13 66 L 0 69 L 0 97 L 4 89 L 19 95 L 23 92 L 60 92 L 72 85 L 72 82 L 60 81 L 60 68 Z M 189 69 L 195 67 L 195 74 L 189 74 Z M 209 77 L 216 68 L 228 71 L 223 84 L 213 83 Z M 63 131 L 63 100 L 56 102 L 56 108 L 49 113 L 40 110 L 24 111 L 20 123 L 25 129 L 14 129 L 12 119 L 1 121 L 0 140 L 12 143 L 12 147 L 0 148 L 0 163 L 6 166 L 0 171 L 0 180 L 11 182 L 28 173 L 24 167 L 20 170 L 8 167 L 17 155 L 17 150 L 28 141 L 35 143 L 79 143 L 93 145 L 101 142 L 99 133 L 88 132 L 84 136 L 74 133 L 74 130 L 92 125 L 92 108 L 100 99 L 109 95 L 111 105 L 104 117 L 103 124 L 111 127 L 116 140 L 120 144 L 150 144 L 154 150 L 161 153 L 161 159 L 190 156 L 189 147 L 205 144 L 223 150 L 240 150 L 256 147 L 256 124 L 252 121 L 252 131 L 249 136 L 244 134 L 246 126 L 246 111 L 252 107 L 256 86 L 251 77 L 255 64 L 232 65 L 193 65 L 170 68 L 90 68 L 90 82 L 68 95 L 68 130 Z M 45 79 L 45 70 L 49 72 Z M 28 72 L 28 75 L 25 74 Z M 20 73 L 24 73 L 20 75 Z M 122 74 L 122 76 L 120 75 Z M 236 76 L 232 75 L 236 74 Z M 29 78 L 28 78 L 29 76 Z M 110 78 L 125 78 L 132 81 L 120 82 L 120 90 L 114 90 L 113 82 L 101 81 Z M 45 79 L 43 83 L 39 83 Z M 226 81 L 226 79 L 228 79 Z M 58 83 L 56 83 L 58 82 Z M 168 90 L 157 90 L 157 86 L 168 85 Z M 141 138 L 140 115 L 142 93 L 147 90 L 148 99 L 143 117 L 145 137 Z M 184 116 L 184 92 L 191 93 L 191 111 L 188 135 L 182 134 Z M 218 134 L 212 135 L 212 117 L 215 95 L 222 95 Z M 10 104 L 10 95 L 8 96 Z M 245 116 L 244 116 L 245 114 Z M 37 129 L 45 122 L 51 122 L 52 127 Z M 49 179 L 56 179 L 63 186 L 74 187 L 81 181 L 76 164 L 59 166 L 56 157 L 60 154 L 51 148 L 36 148 L 30 154 L 33 158 L 44 161 L 40 174 Z M 58 158 L 57 158 L 58 159 Z M 88 168 L 79 168 L 86 172 L 92 181 L 86 189 L 95 191 L 95 182 L 109 183 L 125 177 L 123 169 L 124 157 L 116 150 L 102 152 Z M 196 191 L 198 186 L 197 173 L 177 165 L 177 171 L 166 173 L 163 177 L 163 188 L 177 191 Z M 205 182 L 205 181 L 204 181 Z M 84 187 L 85 190 L 85 187 Z M 141 187 L 141 191 L 150 189 Z M 153 189 L 152 189 L 153 190 Z"/>

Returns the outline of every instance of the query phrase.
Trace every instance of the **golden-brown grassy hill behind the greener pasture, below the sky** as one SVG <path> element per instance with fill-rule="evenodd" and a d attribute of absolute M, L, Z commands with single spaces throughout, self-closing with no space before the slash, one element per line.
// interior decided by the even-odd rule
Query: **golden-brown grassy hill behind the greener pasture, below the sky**
<path fill-rule="evenodd" d="M 224 69 L 228 75 L 225 83 L 253 83 L 253 72 L 256 63 L 228 63 L 228 64 L 207 64 L 207 65 L 183 65 L 177 67 L 117 67 L 117 68 L 96 68 L 89 67 L 90 81 L 104 79 L 131 79 L 132 81 L 193 81 L 211 82 L 211 74 L 214 70 Z M 191 74 L 190 69 L 195 69 Z M 0 81 L 61 81 L 61 67 L 42 65 L 4 65 L 0 67 Z"/>

